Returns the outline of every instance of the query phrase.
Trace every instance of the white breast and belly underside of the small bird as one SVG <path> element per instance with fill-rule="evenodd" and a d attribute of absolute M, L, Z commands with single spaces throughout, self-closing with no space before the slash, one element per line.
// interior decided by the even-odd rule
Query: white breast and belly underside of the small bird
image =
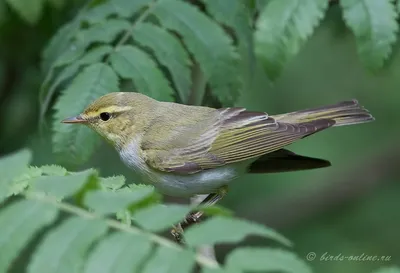
<path fill-rule="evenodd" d="M 162 193 L 171 196 L 192 196 L 214 192 L 237 175 L 235 168 L 224 166 L 191 175 L 160 172 L 151 169 L 140 155 L 140 139 L 136 138 L 120 150 L 122 161 L 141 175 L 145 183 L 151 183 Z"/>

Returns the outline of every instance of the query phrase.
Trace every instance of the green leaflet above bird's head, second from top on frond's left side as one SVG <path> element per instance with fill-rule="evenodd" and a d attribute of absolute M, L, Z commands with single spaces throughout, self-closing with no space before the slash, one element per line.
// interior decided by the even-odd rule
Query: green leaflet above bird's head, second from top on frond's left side
<path fill-rule="evenodd" d="M 118 34 L 129 28 L 130 23 L 126 20 L 110 19 L 79 31 L 75 38 L 83 45 L 83 48 L 95 42 L 109 44 L 115 40 Z"/>

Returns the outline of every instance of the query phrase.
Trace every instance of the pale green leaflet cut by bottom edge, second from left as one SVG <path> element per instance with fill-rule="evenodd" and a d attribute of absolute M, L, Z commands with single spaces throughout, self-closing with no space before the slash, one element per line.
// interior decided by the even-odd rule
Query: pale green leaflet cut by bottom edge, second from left
<path fill-rule="evenodd" d="M 73 217 L 48 233 L 34 252 L 29 273 L 81 272 L 89 247 L 107 231 L 100 220 Z"/>

